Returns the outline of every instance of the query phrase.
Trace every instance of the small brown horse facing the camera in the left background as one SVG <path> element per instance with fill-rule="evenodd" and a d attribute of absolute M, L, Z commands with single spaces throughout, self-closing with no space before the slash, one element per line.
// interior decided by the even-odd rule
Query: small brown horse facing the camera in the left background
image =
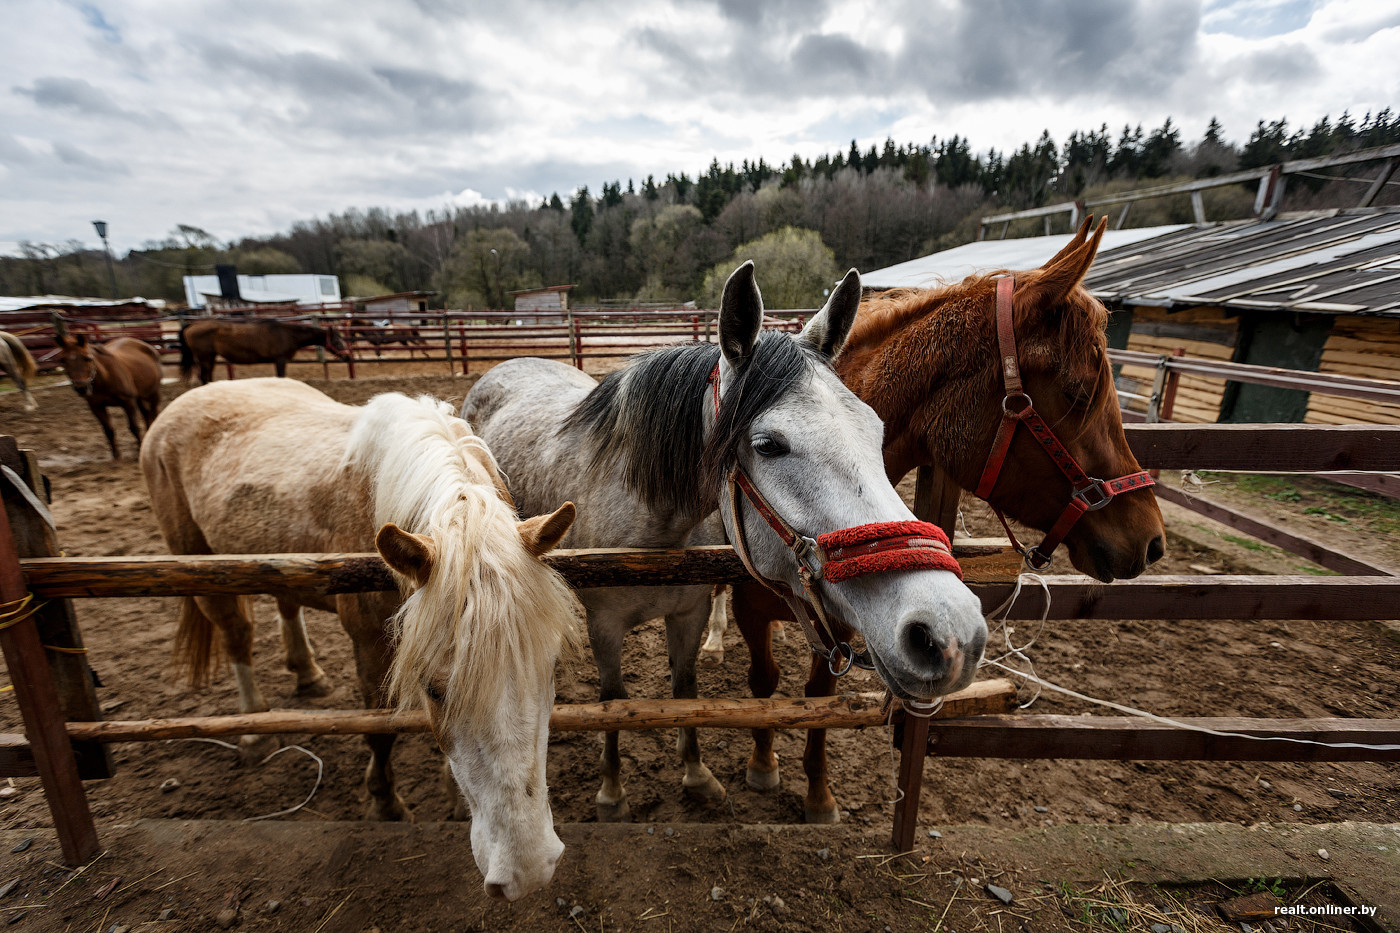
<path fill-rule="evenodd" d="M 136 450 L 140 450 L 141 431 L 136 427 L 136 412 L 140 409 L 146 430 L 150 430 L 161 408 L 161 357 L 155 350 L 134 338 L 88 343 L 80 333 L 59 338 L 59 361 L 69 374 L 73 389 L 83 396 L 102 426 L 106 445 L 112 448 L 112 459 L 122 459 L 116 450 L 112 419 L 106 413 L 113 405 L 126 412 Z"/>

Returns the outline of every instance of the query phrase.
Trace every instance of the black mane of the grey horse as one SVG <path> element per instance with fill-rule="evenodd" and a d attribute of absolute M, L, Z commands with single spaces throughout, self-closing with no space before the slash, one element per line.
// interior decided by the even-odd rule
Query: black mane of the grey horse
<path fill-rule="evenodd" d="M 715 430 L 704 438 L 710 373 L 720 360 L 713 343 L 683 343 L 640 353 L 589 392 L 564 422 L 582 431 L 592 476 L 620 469 L 648 507 L 690 517 L 713 511 L 720 482 L 734 466 L 738 444 L 813 366 L 815 352 L 783 333 L 759 335 L 748 363 L 725 387 Z"/>

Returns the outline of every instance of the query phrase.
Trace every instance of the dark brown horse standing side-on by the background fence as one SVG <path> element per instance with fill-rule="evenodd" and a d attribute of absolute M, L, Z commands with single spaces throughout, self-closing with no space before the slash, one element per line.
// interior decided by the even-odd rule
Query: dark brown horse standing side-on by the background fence
<path fill-rule="evenodd" d="M 228 363 L 272 363 L 287 375 L 287 360 L 304 346 L 321 345 L 342 360 L 350 359 L 340 332 L 315 324 L 276 321 L 196 321 L 179 332 L 179 374 L 185 382 L 199 366 L 199 381 L 214 381 L 214 357 Z"/>

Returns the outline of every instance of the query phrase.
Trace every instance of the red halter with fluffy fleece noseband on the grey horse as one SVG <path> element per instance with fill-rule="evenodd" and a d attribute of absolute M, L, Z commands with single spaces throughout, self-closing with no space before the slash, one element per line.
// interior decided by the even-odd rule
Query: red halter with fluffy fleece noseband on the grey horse
<path fill-rule="evenodd" d="M 715 420 L 720 417 L 720 364 L 710 373 L 710 387 L 714 395 Z M 735 461 L 727 481 L 729 510 L 734 516 L 734 551 L 743 562 L 745 570 L 755 580 L 783 598 L 801 623 L 802 633 L 812 651 L 826 658 L 827 670 L 840 677 L 851 667 L 875 670 L 867 653 L 857 653 L 850 643 L 837 637 L 836 628 L 827 618 L 822 594 L 816 588 L 819 580 L 843 583 L 853 577 L 895 570 L 948 570 L 962 580 L 962 567 L 953 558 L 948 535 L 942 528 L 927 521 L 876 521 L 839 531 L 827 531 L 816 538 L 801 534 L 778 514 L 763 497 L 748 471 Z M 797 560 L 798 579 L 802 581 L 804 600 L 791 587 L 777 580 L 769 580 L 753 566 L 749 542 L 743 531 L 743 500 L 777 534 L 778 539 L 792 552 Z M 820 632 L 812 625 L 808 607 L 816 615 Z M 823 637 L 825 636 L 825 637 Z"/>

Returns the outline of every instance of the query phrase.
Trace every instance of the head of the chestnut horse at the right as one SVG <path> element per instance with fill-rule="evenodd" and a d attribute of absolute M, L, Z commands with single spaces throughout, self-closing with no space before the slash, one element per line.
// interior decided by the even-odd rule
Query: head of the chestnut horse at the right
<path fill-rule="evenodd" d="M 969 391 L 962 402 L 977 412 L 972 422 L 976 427 L 945 434 L 955 444 L 963 441 L 951 465 L 966 489 L 993 479 L 986 468 L 987 451 L 997 444 L 1004 412 L 1029 405 L 1088 476 L 1127 478 L 1141 471 L 1123 433 L 1107 357 L 1107 311 L 1084 287 L 1106 226 L 1100 221 L 1091 235 L 1089 223 L 1086 219 L 1075 238 L 1043 266 L 1014 277 L 1011 317 L 1016 359 L 1009 366 L 1019 370 L 1025 399 L 1014 398 L 1008 389 L 1008 361 L 998 347 L 997 279 L 965 283 L 977 296 L 981 311 L 977 331 L 987 347 L 983 353 L 966 353 L 967 367 L 976 373 L 963 380 Z M 1044 443 L 1032 434 L 1021 429 L 1012 436 L 1005 462 L 1014 466 L 979 495 L 1018 521 L 1050 532 L 1077 490 Z M 1091 504 L 1092 510 L 1079 514 L 1064 534 L 1070 560 L 1078 570 L 1110 583 L 1141 574 L 1163 555 L 1162 513 L 1151 489 L 1095 497 Z"/>

